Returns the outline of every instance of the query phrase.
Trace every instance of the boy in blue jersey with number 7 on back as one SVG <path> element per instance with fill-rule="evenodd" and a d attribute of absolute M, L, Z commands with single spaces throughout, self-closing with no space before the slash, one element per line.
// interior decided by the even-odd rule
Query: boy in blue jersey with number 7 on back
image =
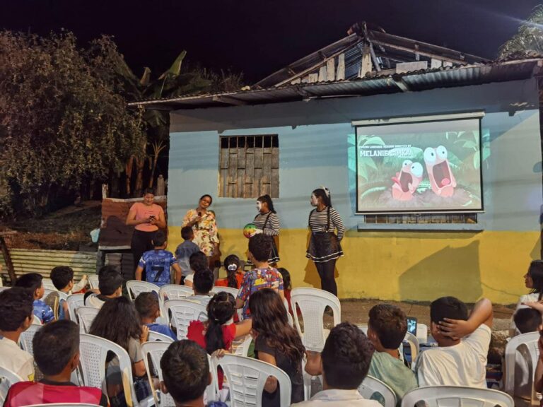
<path fill-rule="evenodd" d="M 136 280 L 141 281 L 141 273 L 145 269 L 146 281 L 153 283 L 159 287 L 170 284 L 171 274 L 170 268 L 175 270 L 175 284 L 181 283 L 181 269 L 175 256 L 172 252 L 165 250 L 168 242 L 162 230 L 156 232 L 153 237 L 153 247 L 155 249 L 145 252 L 139 260 L 138 268 L 136 269 Z"/>

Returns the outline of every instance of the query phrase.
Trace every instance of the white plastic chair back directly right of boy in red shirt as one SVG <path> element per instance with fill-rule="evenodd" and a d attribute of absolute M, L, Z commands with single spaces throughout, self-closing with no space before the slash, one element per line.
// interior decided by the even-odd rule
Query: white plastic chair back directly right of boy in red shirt
<path fill-rule="evenodd" d="M 112 341 L 89 334 L 79 336 L 79 367 L 81 369 L 82 385 L 98 387 L 107 394 L 106 388 L 106 358 L 107 353 L 115 353 L 119 360 L 119 370 L 122 374 L 122 386 L 127 406 L 137 405 L 134 379 L 132 378 L 132 361 L 126 350 Z"/>

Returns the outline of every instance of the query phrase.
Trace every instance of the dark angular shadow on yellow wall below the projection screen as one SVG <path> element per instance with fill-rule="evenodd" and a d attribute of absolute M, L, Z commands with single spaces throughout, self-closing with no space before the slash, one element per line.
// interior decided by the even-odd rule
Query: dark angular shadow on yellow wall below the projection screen
<path fill-rule="evenodd" d="M 479 242 L 465 247 L 445 247 L 399 277 L 401 301 L 414 297 L 433 301 L 451 295 L 465 302 L 476 302 L 481 294 Z"/>

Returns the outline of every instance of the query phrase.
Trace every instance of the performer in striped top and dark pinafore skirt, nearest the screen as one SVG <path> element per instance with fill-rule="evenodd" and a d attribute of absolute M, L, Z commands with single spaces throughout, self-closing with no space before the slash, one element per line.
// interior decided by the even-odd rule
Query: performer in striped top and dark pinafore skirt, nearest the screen
<path fill-rule="evenodd" d="M 343 239 L 345 228 L 341 216 L 332 208 L 330 191 L 326 187 L 313 191 L 311 206 L 316 208 L 309 213 L 311 238 L 305 256 L 315 263 L 322 290 L 337 296 L 334 269 L 336 259 L 343 256 L 339 242 Z M 337 230 L 337 235 L 334 230 Z"/>

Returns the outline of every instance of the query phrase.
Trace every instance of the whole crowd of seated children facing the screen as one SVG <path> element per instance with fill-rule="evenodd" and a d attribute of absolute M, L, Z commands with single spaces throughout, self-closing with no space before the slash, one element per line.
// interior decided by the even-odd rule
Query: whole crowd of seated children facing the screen
<path fill-rule="evenodd" d="M 185 235 L 190 242 L 187 231 Z M 201 252 L 187 254 L 189 250 L 178 250 L 186 254 L 180 267 L 175 256 L 165 251 L 165 240 L 160 239 L 159 236 L 153 253 L 142 256 L 136 276 L 161 285 L 184 282 L 192 287 L 194 294 L 187 300 L 204 305 L 207 319 L 189 324 L 187 340 L 177 341 L 175 326 L 160 318 L 160 299 L 156 293 L 140 293 L 134 302 L 123 295 L 124 281 L 114 266 L 104 266 L 98 271 L 98 289 L 88 290 L 84 297 L 86 306 L 99 309 L 88 333 L 112 341 L 126 351 L 139 401 L 151 396 L 152 389 L 161 389 L 179 406 L 204 406 L 204 391 L 211 380 L 207 355 L 221 358 L 232 353 L 234 341 L 249 334 L 246 340 L 252 341 L 250 355 L 286 372 L 291 380 L 291 403 L 299 406 L 380 406 L 377 399 L 364 399 L 358 392 L 368 375 L 390 387 L 398 406 L 404 395 L 417 387 L 486 388 L 493 311 L 491 302 L 485 298 L 471 312 L 455 297 L 440 297 L 431 302 L 429 331 L 437 346 L 419 353 L 411 367 L 399 350 L 407 333 L 407 317 L 402 309 L 390 304 L 370 309 L 367 336 L 349 322 L 334 326 L 319 353 L 306 350 L 298 330 L 289 324 L 288 312 L 292 309 L 286 309 L 284 299 L 287 290 L 290 294 L 290 275 L 286 269 L 275 269 L 267 263 L 271 252 L 269 237 L 255 235 L 249 240 L 248 257 L 254 265 L 250 271 L 243 272 L 237 256 L 228 256 L 227 277 L 219 284 Z M 146 270 L 146 265 L 157 261 L 165 268 L 158 277 L 156 269 Z M 55 267 L 50 277 L 60 292 L 66 295 L 74 292 L 74 271 L 69 267 Z M 541 262 L 532 262 L 525 281 L 531 292 L 521 298 L 515 311 L 511 325 L 514 334 L 540 331 L 543 327 L 543 305 L 539 303 L 543 292 Z M 238 295 L 214 293 L 214 285 L 236 288 Z M 0 291 L 0 367 L 23 380 L 10 387 L 4 406 L 59 402 L 124 406 L 126 395 L 117 357 L 107 358 L 104 367 L 105 394 L 71 381 L 81 358 L 79 328 L 76 322 L 69 321 L 66 302 L 59 302 L 55 313 L 42 301 L 43 296 L 39 273 L 27 273 L 18 278 L 13 288 Z M 290 305 L 290 295 L 287 298 Z M 240 321 L 237 309 L 243 310 Z M 33 338 L 31 355 L 21 348 L 19 340 L 36 318 L 43 326 Z M 160 361 L 163 373 L 160 384 L 148 382 L 156 372 L 147 372 L 141 350 L 142 344 L 149 340 L 149 331 L 174 341 Z M 517 365 L 515 393 L 529 397 L 531 378 L 527 368 L 522 367 L 520 356 Z M 304 400 L 304 370 L 322 377 L 322 391 L 308 400 Z M 34 381 L 37 372 L 40 376 Z M 223 382 L 223 372 L 219 370 L 221 389 Z M 537 365 L 535 387 L 543 389 L 542 360 Z M 279 406 L 280 393 L 279 381 L 269 377 L 263 389 L 262 406 Z"/>

